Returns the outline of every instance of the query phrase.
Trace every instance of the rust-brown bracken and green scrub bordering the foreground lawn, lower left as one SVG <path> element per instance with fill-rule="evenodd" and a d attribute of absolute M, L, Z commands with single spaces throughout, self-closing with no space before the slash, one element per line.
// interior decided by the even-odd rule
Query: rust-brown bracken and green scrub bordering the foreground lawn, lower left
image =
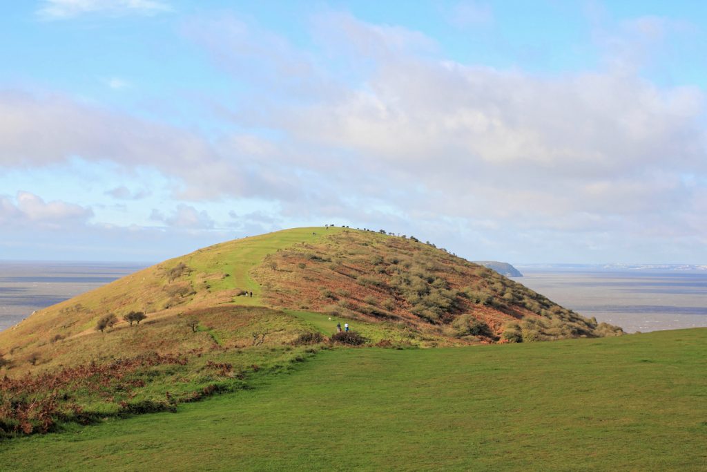
<path fill-rule="evenodd" d="M 173 410 L 175 405 L 235 391 L 255 372 L 275 372 L 299 350 L 156 352 L 102 364 L 0 379 L 0 439 L 55 431 L 70 422 Z"/>

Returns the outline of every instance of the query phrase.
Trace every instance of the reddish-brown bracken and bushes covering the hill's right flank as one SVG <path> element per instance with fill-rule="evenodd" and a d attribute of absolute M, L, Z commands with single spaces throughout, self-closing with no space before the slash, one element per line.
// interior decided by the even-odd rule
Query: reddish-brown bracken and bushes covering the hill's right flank
<path fill-rule="evenodd" d="M 281 270 L 267 270 L 271 263 Z M 400 320 L 430 334 L 447 333 L 443 327 L 450 326 L 457 342 L 498 340 L 509 321 L 525 323 L 527 341 L 622 333 L 610 325 L 599 328 L 596 320 L 486 267 L 429 244 L 370 231 L 344 229 L 320 243 L 295 244 L 271 253 L 252 275 L 273 306 L 296 309 L 306 299 L 315 311 Z M 455 324 L 460 316 L 463 321 Z"/>

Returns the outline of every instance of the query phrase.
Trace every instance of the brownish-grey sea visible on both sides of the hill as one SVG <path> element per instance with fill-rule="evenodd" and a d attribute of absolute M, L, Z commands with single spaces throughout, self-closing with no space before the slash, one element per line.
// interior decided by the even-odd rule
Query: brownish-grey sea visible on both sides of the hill
<path fill-rule="evenodd" d="M 0 262 L 0 330 L 149 264 Z M 534 269 L 515 280 L 629 333 L 707 327 L 707 272 Z"/>

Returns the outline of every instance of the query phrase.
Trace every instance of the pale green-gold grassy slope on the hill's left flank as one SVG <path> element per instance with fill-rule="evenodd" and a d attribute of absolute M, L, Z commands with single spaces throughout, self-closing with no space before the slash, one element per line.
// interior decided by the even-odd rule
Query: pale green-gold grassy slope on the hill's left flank
<path fill-rule="evenodd" d="M 321 231 L 320 231 L 321 230 Z M 100 357 L 129 355 L 124 345 L 139 350 L 143 344 L 153 349 L 163 343 L 163 352 L 173 352 L 182 344 L 185 318 L 223 306 L 265 306 L 260 287 L 250 277 L 253 267 L 262 264 L 269 253 L 312 243 L 324 237 L 323 228 L 298 228 L 243 238 L 202 248 L 194 253 L 166 260 L 133 275 L 79 295 L 60 304 L 37 311 L 32 316 L 0 333 L 0 355 L 11 359 L 13 371 L 56 369 L 59 366 L 90 362 Z M 335 234 L 341 229 L 329 229 Z M 317 233 L 317 234 L 315 234 Z M 178 270 L 184 267 L 183 270 Z M 247 290 L 253 297 L 243 297 Z M 170 330 L 145 329 L 141 343 L 131 343 L 136 330 L 122 317 L 129 311 L 144 311 L 146 326 Z M 95 330 L 97 321 L 114 313 L 119 322 L 108 333 Z M 246 336 L 247 337 L 247 336 Z M 31 357 L 36 362 L 28 362 Z"/>

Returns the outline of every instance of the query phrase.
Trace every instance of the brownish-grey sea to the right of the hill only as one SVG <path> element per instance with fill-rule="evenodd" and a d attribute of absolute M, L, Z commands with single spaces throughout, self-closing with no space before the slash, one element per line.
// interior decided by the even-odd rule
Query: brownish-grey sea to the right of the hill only
<path fill-rule="evenodd" d="M 518 268 L 514 280 L 628 333 L 707 327 L 707 271 Z"/>

